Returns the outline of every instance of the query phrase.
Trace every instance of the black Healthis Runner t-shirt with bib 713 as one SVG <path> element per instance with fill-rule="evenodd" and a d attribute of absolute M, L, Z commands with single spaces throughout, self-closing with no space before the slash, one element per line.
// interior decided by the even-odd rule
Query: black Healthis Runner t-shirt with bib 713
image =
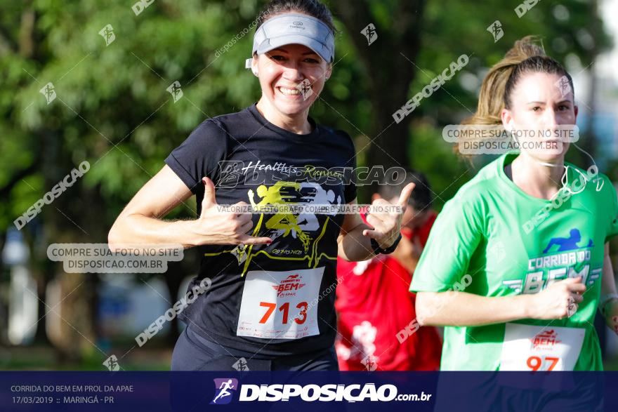
<path fill-rule="evenodd" d="M 298 135 L 271 124 L 252 105 L 204 121 L 165 162 L 196 194 L 198 215 L 204 176 L 215 183 L 220 205 L 353 201 L 355 149 L 350 136 L 309 121 L 313 131 Z M 189 288 L 204 277 L 212 285 L 179 319 L 208 340 L 258 352 L 256 357 L 331 347 L 336 335 L 336 239 L 344 215 L 308 210 L 254 213 L 251 234 L 270 237 L 270 245 L 201 246 L 199 275 Z"/>

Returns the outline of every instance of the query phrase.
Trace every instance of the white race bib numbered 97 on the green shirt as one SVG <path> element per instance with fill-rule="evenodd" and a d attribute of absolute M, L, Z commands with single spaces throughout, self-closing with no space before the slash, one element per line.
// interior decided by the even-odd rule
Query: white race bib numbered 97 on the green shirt
<path fill-rule="evenodd" d="M 586 329 L 506 324 L 500 371 L 572 371 Z"/>

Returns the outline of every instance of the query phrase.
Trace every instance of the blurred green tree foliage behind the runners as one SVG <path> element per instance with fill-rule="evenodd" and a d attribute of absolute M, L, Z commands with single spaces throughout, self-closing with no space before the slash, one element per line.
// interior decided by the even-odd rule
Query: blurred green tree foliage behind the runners
<path fill-rule="evenodd" d="M 550 55 L 578 59 L 582 67 L 607 46 L 602 21 L 586 0 L 542 1 L 522 18 L 513 11 L 517 2 L 499 0 L 330 3 L 339 29 L 336 64 L 312 116 L 353 135 L 359 164 L 388 166 L 395 159 L 427 173 L 438 204 L 474 173 L 440 129 L 474 110 L 480 77 L 515 39 L 539 34 Z M 59 270 L 46 260 L 48 244 L 105 242 L 121 208 L 193 128 L 258 100 L 258 82 L 244 60 L 261 6 L 156 0 L 136 15 L 121 0 L 0 5 L 0 232 L 72 168 L 84 160 L 91 165 L 44 206 L 36 225 L 22 230 L 41 278 Z M 495 20 L 504 36 L 494 42 L 487 27 Z M 369 23 L 379 36 L 371 45 L 360 33 Z M 114 36 L 107 45 L 100 34 L 105 27 L 107 40 Z M 393 126 L 391 114 L 463 53 L 469 64 Z M 183 92 L 176 102 L 166 91 L 174 81 Z M 56 93 L 49 104 L 40 93 L 48 82 Z M 378 145 L 372 143 L 381 133 Z M 360 201 L 369 194 L 362 192 Z M 194 215 L 190 199 L 170 217 Z"/>

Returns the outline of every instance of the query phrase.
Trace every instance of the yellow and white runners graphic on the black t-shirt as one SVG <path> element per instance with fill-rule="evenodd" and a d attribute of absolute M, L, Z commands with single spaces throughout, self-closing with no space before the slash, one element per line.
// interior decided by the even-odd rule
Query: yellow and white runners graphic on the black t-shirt
<path fill-rule="evenodd" d="M 285 182 L 277 181 L 274 185 L 267 187 L 266 185 L 260 185 L 257 187 L 255 193 L 253 190 L 247 192 L 249 202 L 255 211 L 268 211 L 276 208 L 277 205 L 298 205 L 303 204 L 341 204 L 341 197 L 336 197 L 332 190 L 328 192 L 317 183 L 311 182 Z M 256 194 L 258 199 L 256 200 Z M 299 197 L 300 195 L 300 197 Z M 298 201 L 300 200 L 300 201 Z M 266 216 L 268 220 L 264 222 L 265 213 L 260 214 L 260 218 L 254 227 L 251 236 L 258 236 L 258 233 L 265 227 L 268 233 L 259 234 L 259 236 L 270 236 L 271 239 L 277 239 L 278 237 L 293 237 L 298 239 L 303 244 L 305 255 L 303 257 L 284 257 L 271 255 L 265 250 L 256 251 L 251 253 L 254 245 L 239 245 L 232 249 L 224 250 L 216 253 L 204 253 L 206 256 L 221 255 L 221 253 L 231 253 L 235 255 L 238 260 L 238 264 L 241 265 L 244 262 L 242 269 L 243 276 L 249 267 L 251 260 L 259 254 L 263 254 L 266 257 L 274 260 L 308 260 L 308 267 L 317 267 L 317 263 L 322 257 L 329 260 L 336 260 L 336 256 L 329 256 L 326 253 L 318 254 L 318 244 L 324 233 L 326 232 L 328 222 L 331 220 L 327 217 L 320 230 L 320 222 L 313 213 L 302 213 L 300 216 L 294 213 L 285 211 L 285 208 L 281 208 L 283 211 L 279 211 L 272 216 Z M 299 220 L 300 219 L 300 220 Z M 262 226 L 264 225 L 264 226 Z M 320 234 L 313 239 L 309 236 L 308 232 L 317 232 Z M 312 242 L 313 241 L 313 242 Z M 313 243 L 313 244 L 312 244 Z"/>

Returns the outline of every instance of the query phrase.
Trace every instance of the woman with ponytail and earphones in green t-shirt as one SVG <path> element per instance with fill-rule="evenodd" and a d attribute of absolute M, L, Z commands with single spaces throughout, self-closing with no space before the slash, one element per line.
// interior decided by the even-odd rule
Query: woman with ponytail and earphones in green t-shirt
<path fill-rule="evenodd" d="M 419 324 L 446 326 L 442 370 L 603 369 L 593 319 L 600 308 L 618 328 L 616 192 L 596 166 L 565 162 L 568 142 L 530 133 L 576 118 L 570 75 L 530 37 L 485 77 L 465 123 L 502 125 L 521 151 L 445 204 L 416 267 Z"/>

